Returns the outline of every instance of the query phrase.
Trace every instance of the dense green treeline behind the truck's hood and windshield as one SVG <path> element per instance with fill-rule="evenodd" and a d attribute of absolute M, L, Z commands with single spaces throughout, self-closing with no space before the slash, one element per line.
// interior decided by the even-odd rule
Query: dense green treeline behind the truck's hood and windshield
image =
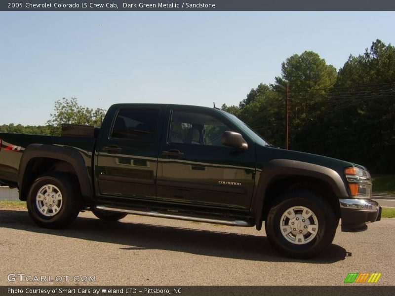
<path fill-rule="evenodd" d="M 285 96 L 289 83 L 289 149 L 395 173 L 395 47 L 381 40 L 336 69 L 312 51 L 281 65 L 274 84 L 259 84 L 237 115 L 270 144 L 285 146 Z"/>

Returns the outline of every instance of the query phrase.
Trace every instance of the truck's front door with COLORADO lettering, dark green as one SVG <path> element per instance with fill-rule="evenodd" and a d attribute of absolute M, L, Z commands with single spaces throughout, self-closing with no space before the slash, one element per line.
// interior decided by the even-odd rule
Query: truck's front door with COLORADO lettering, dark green
<path fill-rule="evenodd" d="M 169 108 L 167 118 L 158 158 L 158 200 L 248 209 L 255 178 L 253 143 L 246 151 L 224 146 L 224 131 L 239 131 L 218 112 Z"/>

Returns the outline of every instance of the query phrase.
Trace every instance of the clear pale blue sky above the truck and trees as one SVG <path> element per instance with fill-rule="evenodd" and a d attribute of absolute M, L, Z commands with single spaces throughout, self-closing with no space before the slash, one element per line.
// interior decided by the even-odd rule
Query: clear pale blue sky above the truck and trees
<path fill-rule="evenodd" d="M 337 69 L 395 12 L 0 12 L 0 124 L 45 124 L 54 101 L 238 104 L 295 53 Z"/>

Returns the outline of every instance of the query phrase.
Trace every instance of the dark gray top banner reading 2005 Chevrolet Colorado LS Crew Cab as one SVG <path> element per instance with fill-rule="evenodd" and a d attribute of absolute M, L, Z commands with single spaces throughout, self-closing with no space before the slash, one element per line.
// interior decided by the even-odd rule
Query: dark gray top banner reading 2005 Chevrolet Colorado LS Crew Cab
<path fill-rule="evenodd" d="M 263 10 L 395 10 L 394 0 L 7 0 L 7 11 L 263 11 Z"/>

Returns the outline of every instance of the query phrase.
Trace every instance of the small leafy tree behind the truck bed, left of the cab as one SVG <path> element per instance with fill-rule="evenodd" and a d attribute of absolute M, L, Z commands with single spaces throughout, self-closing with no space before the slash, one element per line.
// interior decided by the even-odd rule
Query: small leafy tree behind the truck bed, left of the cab
<path fill-rule="evenodd" d="M 77 98 L 57 100 L 54 111 L 50 114 L 52 118 L 47 121 L 47 124 L 51 128 L 51 133 L 57 135 L 60 134 L 61 125 L 64 123 L 100 126 L 106 113 L 104 109 L 93 110 L 80 106 Z"/>

